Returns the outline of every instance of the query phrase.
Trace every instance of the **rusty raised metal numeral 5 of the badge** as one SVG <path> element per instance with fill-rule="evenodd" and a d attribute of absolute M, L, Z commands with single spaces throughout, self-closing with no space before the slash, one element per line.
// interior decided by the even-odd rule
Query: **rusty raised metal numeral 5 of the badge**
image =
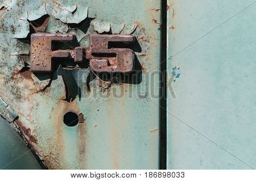
<path fill-rule="evenodd" d="M 109 48 L 110 42 L 134 43 L 132 35 L 90 35 L 90 49 L 86 57 L 90 59 L 90 68 L 97 72 L 128 73 L 134 68 L 134 52 L 128 48 Z M 104 54 L 104 57 L 92 54 Z M 114 54 L 115 57 L 108 57 Z"/>

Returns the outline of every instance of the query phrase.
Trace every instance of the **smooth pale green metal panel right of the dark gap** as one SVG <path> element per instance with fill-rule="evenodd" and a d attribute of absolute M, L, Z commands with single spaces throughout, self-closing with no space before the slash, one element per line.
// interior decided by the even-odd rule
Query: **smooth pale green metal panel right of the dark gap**
<path fill-rule="evenodd" d="M 168 5 L 167 168 L 255 169 L 255 1 Z"/>

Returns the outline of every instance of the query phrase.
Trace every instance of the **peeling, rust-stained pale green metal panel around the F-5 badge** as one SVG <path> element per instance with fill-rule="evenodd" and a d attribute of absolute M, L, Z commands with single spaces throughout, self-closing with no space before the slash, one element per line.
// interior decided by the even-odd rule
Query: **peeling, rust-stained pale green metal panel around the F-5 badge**
<path fill-rule="evenodd" d="M 159 7 L 152 0 L 0 1 L 0 110 L 8 105 L 1 114 L 49 169 L 158 169 L 159 73 L 150 70 L 160 62 Z M 131 34 L 134 72 L 100 78 L 63 58 L 53 73 L 32 73 L 31 33 L 72 34 L 86 47 L 95 33 Z M 80 115 L 75 127 L 64 124 L 67 112 Z"/>

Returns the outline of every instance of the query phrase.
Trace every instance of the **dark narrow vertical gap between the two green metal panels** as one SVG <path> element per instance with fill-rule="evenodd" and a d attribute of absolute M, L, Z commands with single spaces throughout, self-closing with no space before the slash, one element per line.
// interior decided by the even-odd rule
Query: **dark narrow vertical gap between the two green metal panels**
<path fill-rule="evenodd" d="M 162 0 L 161 60 L 160 60 L 160 159 L 159 168 L 167 164 L 167 0 Z"/>

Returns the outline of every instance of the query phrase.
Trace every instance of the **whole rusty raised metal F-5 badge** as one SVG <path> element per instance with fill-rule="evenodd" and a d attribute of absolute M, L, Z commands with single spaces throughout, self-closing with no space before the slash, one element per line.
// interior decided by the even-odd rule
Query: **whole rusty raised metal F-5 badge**
<path fill-rule="evenodd" d="M 31 71 L 52 72 L 52 58 L 69 57 L 79 63 L 83 52 L 90 60 L 90 68 L 96 72 L 128 73 L 134 68 L 134 52 L 128 48 L 109 48 L 109 43 L 134 43 L 132 35 L 90 35 L 89 48 L 76 47 L 75 50 L 52 51 L 52 42 L 74 41 L 71 34 L 34 33 L 31 35 Z M 94 56 L 93 56 L 94 54 Z M 101 56 L 103 55 L 104 56 Z M 114 54 L 114 57 L 109 56 Z M 100 57 L 97 57 L 100 56 Z"/>

